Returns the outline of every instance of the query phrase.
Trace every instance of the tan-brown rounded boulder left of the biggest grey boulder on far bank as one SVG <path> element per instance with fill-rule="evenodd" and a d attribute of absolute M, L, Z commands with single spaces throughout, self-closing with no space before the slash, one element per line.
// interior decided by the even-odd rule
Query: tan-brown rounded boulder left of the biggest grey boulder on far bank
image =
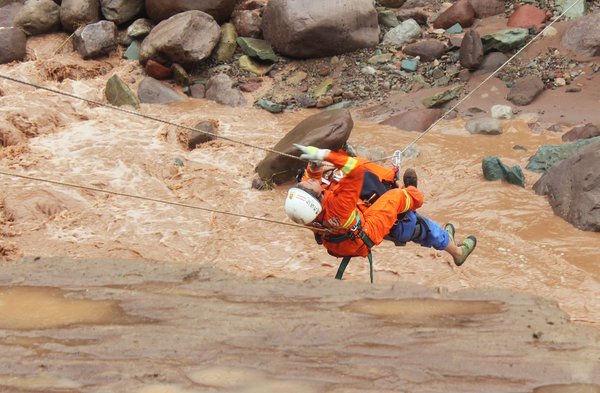
<path fill-rule="evenodd" d="M 154 59 L 162 64 L 198 63 L 210 56 L 220 36 L 221 29 L 209 14 L 182 12 L 152 29 L 142 42 L 140 62 Z"/>

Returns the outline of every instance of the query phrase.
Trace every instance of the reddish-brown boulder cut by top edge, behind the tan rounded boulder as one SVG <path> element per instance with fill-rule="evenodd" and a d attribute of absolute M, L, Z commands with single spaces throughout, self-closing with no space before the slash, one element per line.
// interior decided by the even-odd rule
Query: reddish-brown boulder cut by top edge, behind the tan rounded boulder
<path fill-rule="evenodd" d="M 202 11 L 218 23 L 227 22 L 237 0 L 146 0 L 146 12 L 154 23 L 185 11 Z"/>

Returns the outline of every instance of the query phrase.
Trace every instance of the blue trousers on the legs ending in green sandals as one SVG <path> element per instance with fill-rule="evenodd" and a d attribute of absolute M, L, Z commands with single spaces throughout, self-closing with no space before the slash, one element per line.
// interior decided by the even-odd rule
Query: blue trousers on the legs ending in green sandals
<path fill-rule="evenodd" d="M 417 225 L 421 226 L 421 233 L 413 239 Z M 389 236 L 400 242 L 407 243 L 412 241 L 423 247 L 433 247 L 436 250 L 445 249 L 450 242 L 448 232 L 438 223 L 420 214 L 417 218 L 417 214 L 414 211 L 407 212 L 402 220 L 398 220 L 398 223 L 390 230 Z"/>

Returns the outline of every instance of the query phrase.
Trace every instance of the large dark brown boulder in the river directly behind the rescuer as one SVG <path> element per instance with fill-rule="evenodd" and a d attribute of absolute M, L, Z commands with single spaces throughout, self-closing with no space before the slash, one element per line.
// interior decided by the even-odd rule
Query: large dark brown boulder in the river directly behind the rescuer
<path fill-rule="evenodd" d="M 273 147 L 273 150 L 299 156 L 300 152 L 294 147 L 294 143 L 338 150 L 350 137 L 353 126 L 354 122 L 348 110 L 323 111 L 301 121 Z M 304 168 L 304 161 L 268 153 L 255 170 L 261 179 L 281 184 L 293 179 L 298 170 Z"/>

